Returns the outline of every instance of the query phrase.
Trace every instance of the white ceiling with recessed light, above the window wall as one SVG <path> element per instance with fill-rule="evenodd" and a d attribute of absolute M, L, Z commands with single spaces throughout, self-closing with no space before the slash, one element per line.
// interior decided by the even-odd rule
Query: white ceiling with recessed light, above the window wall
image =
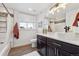
<path fill-rule="evenodd" d="M 45 11 L 51 5 L 50 3 L 4 3 L 6 7 L 12 8 L 16 11 L 37 15 L 42 11 Z M 32 11 L 28 10 L 29 8 Z"/>

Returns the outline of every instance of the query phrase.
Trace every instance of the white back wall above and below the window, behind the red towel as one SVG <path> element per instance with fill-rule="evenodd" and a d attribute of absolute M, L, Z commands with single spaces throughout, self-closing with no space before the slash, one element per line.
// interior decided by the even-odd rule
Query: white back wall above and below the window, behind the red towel
<path fill-rule="evenodd" d="M 17 22 L 36 22 L 35 16 L 21 14 L 19 12 L 14 12 L 14 24 Z M 33 38 L 36 38 L 36 30 L 25 30 L 19 27 L 20 37 L 19 39 L 14 38 L 14 47 L 30 44 Z"/>

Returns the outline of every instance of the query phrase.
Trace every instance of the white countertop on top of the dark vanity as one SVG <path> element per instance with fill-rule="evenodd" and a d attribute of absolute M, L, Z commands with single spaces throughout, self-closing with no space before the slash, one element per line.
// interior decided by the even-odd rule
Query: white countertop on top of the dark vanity
<path fill-rule="evenodd" d="M 77 45 L 79 46 L 79 38 L 60 38 L 58 37 L 55 33 L 54 34 L 42 34 L 42 33 L 37 33 L 37 35 L 42 35 L 42 36 L 45 36 L 45 37 L 48 37 L 48 38 L 53 38 L 53 39 L 56 39 L 56 40 L 59 40 L 59 41 L 62 41 L 62 42 L 67 42 L 67 43 L 70 43 L 70 44 L 74 44 L 74 45 Z"/>

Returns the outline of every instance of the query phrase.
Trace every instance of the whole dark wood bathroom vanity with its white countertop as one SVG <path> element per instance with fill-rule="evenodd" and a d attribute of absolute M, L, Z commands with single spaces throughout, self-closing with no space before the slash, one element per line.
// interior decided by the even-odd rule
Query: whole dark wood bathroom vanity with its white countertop
<path fill-rule="evenodd" d="M 37 48 L 42 56 L 79 56 L 79 40 L 37 34 Z"/>

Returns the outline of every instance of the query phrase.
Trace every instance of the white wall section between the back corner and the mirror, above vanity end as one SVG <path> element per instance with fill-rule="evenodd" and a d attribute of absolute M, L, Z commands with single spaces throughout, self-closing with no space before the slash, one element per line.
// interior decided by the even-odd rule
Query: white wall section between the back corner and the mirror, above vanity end
<path fill-rule="evenodd" d="M 47 29 L 48 28 L 48 19 L 46 19 L 47 15 L 47 10 L 45 10 L 43 13 L 40 13 L 38 16 L 37 16 L 37 23 L 38 25 L 42 22 L 42 26 L 41 27 L 38 27 L 38 33 L 43 33 L 43 29 Z"/>

